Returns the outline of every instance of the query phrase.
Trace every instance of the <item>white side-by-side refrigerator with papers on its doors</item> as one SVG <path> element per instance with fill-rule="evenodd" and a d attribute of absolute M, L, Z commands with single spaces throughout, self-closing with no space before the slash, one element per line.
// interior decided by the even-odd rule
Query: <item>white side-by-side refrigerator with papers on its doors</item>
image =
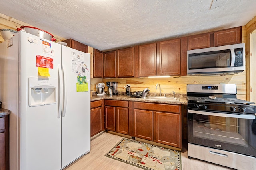
<path fill-rule="evenodd" d="M 10 170 L 60 170 L 90 152 L 90 54 L 19 31 L 0 43 Z"/>

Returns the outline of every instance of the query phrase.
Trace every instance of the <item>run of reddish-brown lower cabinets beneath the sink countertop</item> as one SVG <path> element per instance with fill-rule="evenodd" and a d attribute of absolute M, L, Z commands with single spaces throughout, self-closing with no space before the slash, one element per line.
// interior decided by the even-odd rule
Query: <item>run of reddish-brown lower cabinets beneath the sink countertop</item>
<path fill-rule="evenodd" d="M 96 107 L 97 106 L 97 107 Z M 104 130 L 100 103 L 91 102 L 91 135 Z M 94 108 L 93 108 L 94 107 Z M 179 104 L 104 102 L 105 129 L 181 149 L 182 108 Z"/>

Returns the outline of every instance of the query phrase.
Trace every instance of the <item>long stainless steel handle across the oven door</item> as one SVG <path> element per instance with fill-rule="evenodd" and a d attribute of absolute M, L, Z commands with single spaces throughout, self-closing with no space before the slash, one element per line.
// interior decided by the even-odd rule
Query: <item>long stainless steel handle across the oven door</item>
<path fill-rule="evenodd" d="M 226 114 L 226 113 L 215 113 L 215 112 L 198 111 L 198 110 L 190 110 L 190 109 L 188 109 L 188 113 L 195 113 L 199 115 L 209 115 L 209 116 L 219 116 L 219 117 L 233 117 L 233 118 L 241 118 L 241 119 L 255 119 L 256 117 L 256 115 Z"/>

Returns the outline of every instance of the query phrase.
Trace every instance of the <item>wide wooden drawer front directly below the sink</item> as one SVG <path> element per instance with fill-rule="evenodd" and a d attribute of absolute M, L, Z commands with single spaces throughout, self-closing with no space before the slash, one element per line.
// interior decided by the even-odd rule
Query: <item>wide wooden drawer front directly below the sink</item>
<path fill-rule="evenodd" d="M 155 111 L 180 113 L 180 105 L 134 102 L 133 107 L 136 108 L 136 109 L 145 109 L 145 110 L 155 110 Z"/>

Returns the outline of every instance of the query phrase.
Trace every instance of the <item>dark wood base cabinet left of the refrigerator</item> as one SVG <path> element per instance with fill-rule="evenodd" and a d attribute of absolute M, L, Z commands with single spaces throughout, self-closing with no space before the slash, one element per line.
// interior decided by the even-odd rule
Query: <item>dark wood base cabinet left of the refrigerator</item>
<path fill-rule="evenodd" d="M 0 170 L 9 170 L 9 115 L 0 116 Z"/>

